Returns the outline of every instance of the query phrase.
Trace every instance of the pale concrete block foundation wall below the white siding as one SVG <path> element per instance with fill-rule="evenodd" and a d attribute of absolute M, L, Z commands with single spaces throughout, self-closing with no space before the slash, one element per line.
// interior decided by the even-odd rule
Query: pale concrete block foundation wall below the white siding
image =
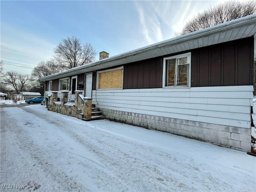
<path fill-rule="evenodd" d="M 250 150 L 250 129 L 234 126 L 224 126 L 192 120 L 167 118 L 118 110 L 101 109 L 102 114 L 109 119 L 169 132 L 176 135 L 195 138 L 242 151 Z"/>

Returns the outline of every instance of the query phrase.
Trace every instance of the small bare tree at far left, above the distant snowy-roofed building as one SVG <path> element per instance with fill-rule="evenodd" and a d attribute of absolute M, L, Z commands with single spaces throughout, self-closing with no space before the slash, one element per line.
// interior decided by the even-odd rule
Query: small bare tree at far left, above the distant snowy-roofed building
<path fill-rule="evenodd" d="M 26 86 L 29 82 L 29 77 L 27 75 L 22 75 L 15 71 L 6 72 L 6 76 L 3 78 L 3 82 L 14 88 L 16 94 L 26 90 Z"/>

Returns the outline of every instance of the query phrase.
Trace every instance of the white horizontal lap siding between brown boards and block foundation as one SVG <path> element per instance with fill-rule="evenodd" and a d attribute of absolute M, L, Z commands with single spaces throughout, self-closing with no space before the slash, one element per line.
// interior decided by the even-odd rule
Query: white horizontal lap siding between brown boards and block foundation
<path fill-rule="evenodd" d="M 93 103 L 120 110 L 250 128 L 252 86 L 93 91 Z"/>

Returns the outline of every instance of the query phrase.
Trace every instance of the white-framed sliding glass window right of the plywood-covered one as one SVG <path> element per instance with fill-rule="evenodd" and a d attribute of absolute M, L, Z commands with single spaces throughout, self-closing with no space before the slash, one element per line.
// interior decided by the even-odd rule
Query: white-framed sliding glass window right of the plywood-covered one
<path fill-rule="evenodd" d="M 191 53 L 164 58 L 163 87 L 190 86 Z"/>

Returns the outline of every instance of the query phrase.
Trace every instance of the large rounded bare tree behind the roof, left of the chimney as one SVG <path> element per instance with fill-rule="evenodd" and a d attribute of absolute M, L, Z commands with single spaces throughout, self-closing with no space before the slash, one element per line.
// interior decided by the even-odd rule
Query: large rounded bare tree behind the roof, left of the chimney
<path fill-rule="evenodd" d="M 81 44 L 80 39 L 72 36 L 62 39 L 54 48 L 54 61 L 62 69 L 71 69 L 95 60 L 96 51 L 92 44 Z"/>

